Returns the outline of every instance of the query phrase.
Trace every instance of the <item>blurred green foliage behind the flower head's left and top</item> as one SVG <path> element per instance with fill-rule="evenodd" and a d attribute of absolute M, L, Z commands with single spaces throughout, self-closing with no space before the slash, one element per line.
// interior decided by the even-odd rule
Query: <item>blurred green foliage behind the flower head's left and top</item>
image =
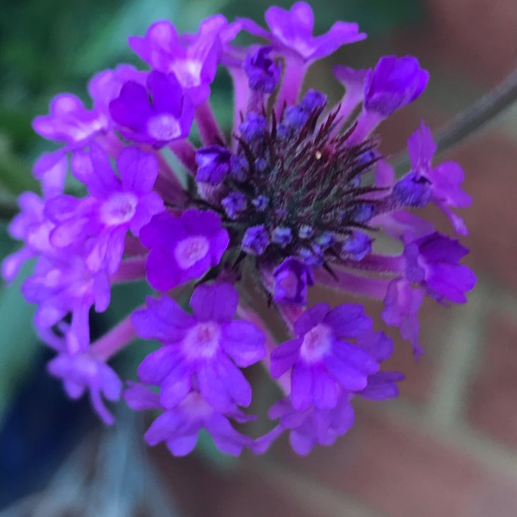
<path fill-rule="evenodd" d="M 292 1 L 277 5 L 289 8 Z M 31 128 L 37 114 L 48 111 L 55 94 L 74 92 L 88 105 L 86 83 L 94 72 L 119 62 L 138 64 L 127 45 L 130 34 L 143 34 L 150 23 L 170 19 L 179 30 L 194 31 L 201 19 L 222 12 L 229 19 L 251 17 L 263 23 L 265 0 L 3 0 L 0 16 L 0 219 L 6 219 L 14 196 L 37 190 L 30 170 L 37 155 L 55 145 Z M 318 0 L 314 3 L 316 33 L 338 19 L 358 21 L 369 37 L 389 34 L 396 26 L 420 17 L 420 1 Z M 142 63 L 140 63 L 142 65 Z M 230 124 L 230 81 L 216 79 L 212 103 L 223 125 Z M 14 249 L 0 226 L 0 259 Z M 28 274 L 27 270 L 24 274 Z M 12 388 L 34 353 L 28 321 L 34 312 L 19 293 L 23 274 L 0 289 L 0 416 Z M 142 303 L 144 287 L 122 287 L 103 323 Z M 116 307 L 115 307 L 116 305 Z M 134 361 L 137 360 L 135 356 Z"/>

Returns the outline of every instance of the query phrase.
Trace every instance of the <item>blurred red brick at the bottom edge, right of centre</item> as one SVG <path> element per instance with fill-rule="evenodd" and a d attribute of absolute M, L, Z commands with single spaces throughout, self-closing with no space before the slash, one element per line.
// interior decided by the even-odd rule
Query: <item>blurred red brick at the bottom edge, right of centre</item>
<path fill-rule="evenodd" d="M 358 414 L 334 445 L 279 461 L 389 517 L 472 517 L 485 473 L 472 459 L 415 427 Z"/>

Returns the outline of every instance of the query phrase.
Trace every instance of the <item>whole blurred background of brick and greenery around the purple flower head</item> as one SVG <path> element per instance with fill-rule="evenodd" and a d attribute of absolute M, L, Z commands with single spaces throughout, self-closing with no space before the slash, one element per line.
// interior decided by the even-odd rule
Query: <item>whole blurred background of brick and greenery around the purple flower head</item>
<path fill-rule="evenodd" d="M 365 67 L 383 54 L 413 54 L 430 70 L 425 94 L 381 127 L 382 149 L 392 156 L 420 119 L 439 128 L 517 63 L 516 0 L 312 5 L 316 33 L 343 19 L 358 21 L 369 34 L 312 68 L 306 84 L 331 99 L 341 95 L 335 63 Z M 153 21 L 167 18 L 194 31 L 204 17 L 223 12 L 263 23 L 267 6 L 263 0 L 3 0 L 0 258 L 17 247 L 6 234 L 13 200 L 37 189 L 32 163 L 52 150 L 30 122 L 47 112 L 55 94 L 70 91 L 87 101 L 85 85 L 94 72 L 138 63 L 127 37 L 143 34 Z M 212 105 L 226 123 L 230 94 L 221 74 Z M 397 343 L 387 366 L 407 374 L 401 397 L 381 405 L 358 401 L 352 430 L 307 458 L 281 440 L 265 456 L 229 459 L 205 438 L 196 454 L 172 458 L 163 447 L 145 448 L 145 425 L 123 404 L 114 429 L 103 429 L 87 401 L 69 403 L 45 372 L 50 353 L 32 333 L 33 308 L 19 294 L 28 271 L 0 287 L 0 516 L 516 516 L 516 144 L 514 107 L 440 156 L 463 165 L 465 190 L 474 198 L 462 215 L 471 231 L 467 263 L 479 283 L 465 307 L 423 307 L 426 353 L 419 363 L 407 343 Z M 435 212 L 429 217 L 447 228 Z M 93 322 L 94 332 L 139 303 L 137 291 L 115 292 L 114 308 Z M 119 371 L 134 369 L 141 354 L 139 348 L 122 357 Z M 272 389 L 263 387 L 258 407 L 267 406 Z"/>

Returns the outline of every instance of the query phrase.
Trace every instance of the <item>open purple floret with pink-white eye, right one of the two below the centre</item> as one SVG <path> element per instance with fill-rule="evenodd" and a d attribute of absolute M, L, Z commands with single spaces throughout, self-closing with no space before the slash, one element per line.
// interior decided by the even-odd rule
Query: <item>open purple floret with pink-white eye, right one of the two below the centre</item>
<path fill-rule="evenodd" d="M 294 324 L 298 338 L 279 345 L 271 354 L 271 374 L 278 378 L 292 367 L 291 401 L 296 409 L 314 405 L 332 409 L 338 387 L 358 391 L 378 370 L 372 356 L 344 341 L 372 329 L 361 305 L 342 304 L 330 310 L 327 303 L 307 309 Z"/>

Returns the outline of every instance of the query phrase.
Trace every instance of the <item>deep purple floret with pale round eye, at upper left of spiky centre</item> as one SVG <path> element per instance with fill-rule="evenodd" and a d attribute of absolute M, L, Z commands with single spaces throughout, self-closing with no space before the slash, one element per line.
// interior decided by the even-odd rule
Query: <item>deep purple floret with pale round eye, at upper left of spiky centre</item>
<path fill-rule="evenodd" d="M 128 139 L 155 147 L 188 136 L 194 118 L 192 103 L 174 74 L 156 70 L 148 75 L 147 88 L 124 83 L 119 97 L 110 102 L 110 113 Z"/>

